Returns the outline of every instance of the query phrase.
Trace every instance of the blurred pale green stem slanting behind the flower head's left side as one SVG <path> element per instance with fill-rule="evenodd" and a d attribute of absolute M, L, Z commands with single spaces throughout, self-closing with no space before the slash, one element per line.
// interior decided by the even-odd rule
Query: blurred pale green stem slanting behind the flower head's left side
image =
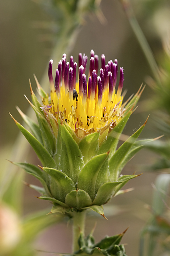
<path fill-rule="evenodd" d="M 101 22 L 104 21 L 104 16 L 99 7 L 101 0 L 34 0 L 34 2 L 47 11 L 51 16 L 51 19 L 55 22 L 56 30 L 54 35 L 54 46 L 51 54 L 51 59 L 53 59 L 55 63 L 60 60 L 62 53 L 67 52 L 67 54 L 69 54 L 70 50 L 74 46 L 86 15 L 90 13 L 96 14 Z M 41 80 L 41 86 L 44 89 L 49 86 L 48 77 L 46 75 L 47 69 L 48 67 L 46 67 L 44 72 L 45 75 Z M 27 115 L 32 117 L 34 116 L 33 112 L 32 108 L 29 107 Z M 22 134 L 19 134 L 13 145 L 12 154 L 9 158 L 21 161 L 26 158 L 29 149 L 30 147 L 26 139 Z M 8 188 L 11 186 L 14 177 L 18 180 L 18 175 L 15 174 L 19 171 L 16 166 L 8 164 L 4 172 L 5 176 L 3 182 L 0 183 L 0 198 L 3 198 L 5 202 L 10 203 L 9 201 L 11 200 L 11 197 L 7 196 L 9 193 Z M 18 186 L 16 186 L 20 199 L 17 196 L 17 193 L 13 194 L 13 197 L 16 197 L 16 201 L 18 202 L 13 205 L 17 211 L 19 209 L 19 201 L 21 201 L 22 185 L 20 181 L 23 179 L 23 175 L 23 172 L 22 175 L 19 175 L 20 178 L 19 181 L 17 181 Z M 19 211 L 21 212 L 21 209 Z"/>

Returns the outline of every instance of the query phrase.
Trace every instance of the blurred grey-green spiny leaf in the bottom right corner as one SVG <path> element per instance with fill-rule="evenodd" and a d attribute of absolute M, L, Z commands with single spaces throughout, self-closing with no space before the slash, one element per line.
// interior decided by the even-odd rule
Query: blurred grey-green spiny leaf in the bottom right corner
<path fill-rule="evenodd" d="M 141 231 L 140 256 L 163 255 L 168 253 L 168 247 L 164 246 L 170 235 L 170 220 L 166 212 L 170 211 L 168 205 L 170 174 L 161 174 L 153 185 L 153 201 L 150 207 L 152 217 Z M 147 236 L 149 234 L 149 237 Z"/>

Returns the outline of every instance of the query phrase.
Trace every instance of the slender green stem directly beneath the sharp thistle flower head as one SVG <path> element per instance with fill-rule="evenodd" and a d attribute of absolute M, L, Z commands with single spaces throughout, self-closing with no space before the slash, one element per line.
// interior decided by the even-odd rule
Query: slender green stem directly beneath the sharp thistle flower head
<path fill-rule="evenodd" d="M 74 212 L 73 215 L 73 249 L 72 252 L 79 250 L 78 239 L 80 233 L 84 235 L 85 228 L 85 219 L 86 219 L 86 210 L 83 212 Z"/>

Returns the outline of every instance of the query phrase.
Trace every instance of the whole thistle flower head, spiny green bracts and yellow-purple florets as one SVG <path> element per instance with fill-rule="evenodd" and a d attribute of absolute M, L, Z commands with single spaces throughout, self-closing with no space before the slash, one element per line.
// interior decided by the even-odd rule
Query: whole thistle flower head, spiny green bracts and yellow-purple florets
<path fill-rule="evenodd" d="M 115 90 L 117 60 L 106 65 L 102 54 L 102 68 L 98 71 L 98 56 L 91 50 L 88 79 L 86 64 L 87 56 L 79 54 L 79 83 L 76 83 L 77 63 L 72 56 L 70 63 L 66 62 L 66 54 L 63 54 L 54 83 L 50 60 L 50 97 L 35 78 L 43 105 L 31 85 L 33 104 L 27 100 L 36 113 L 38 125 L 19 110 L 34 135 L 13 119 L 42 166 L 40 170 L 25 162 L 14 164 L 39 179 L 43 188 L 30 187 L 42 194 L 39 198 L 54 204 L 52 212 L 71 215 L 88 208 L 104 216 L 102 204 L 119 194 L 131 178 L 138 176 L 120 176 L 120 172 L 143 147 L 136 139 L 146 122 L 118 149 L 117 145 L 143 89 L 140 87 L 129 102 L 122 104 L 123 68 L 120 68 L 119 85 Z"/>

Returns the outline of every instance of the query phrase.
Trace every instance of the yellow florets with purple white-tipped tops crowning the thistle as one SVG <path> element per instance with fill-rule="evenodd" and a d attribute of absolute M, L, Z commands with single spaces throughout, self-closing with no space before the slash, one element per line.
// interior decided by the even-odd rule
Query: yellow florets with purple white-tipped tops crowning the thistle
<path fill-rule="evenodd" d="M 122 108 L 123 68 L 120 68 L 120 80 L 116 93 L 115 85 L 118 76 L 118 62 L 115 59 L 105 65 L 105 56 L 101 57 L 102 68 L 98 73 L 98 56 L 91 50 L 89 77 L 85 70 L 87 56 L 79 54 L 78 77 L 76 82 L 77 63 L 70 57 L 66 63 L 66 54 L 58 63 L 55 83 L 52 78 L 52 60 L 49 63 L 49 80 L 51 97 L 44 98 L 44 109 L 57 119 L 58 112 L 64 123 L 76 131 L 83 129 L 85 133 L 98 131 L 106 126 L 108 131 L 120 121 L 125 109 Z M 79 133 L 80 134 L 80 133 Z M 84 134 L 84 132 L 82 133 Z"/>

